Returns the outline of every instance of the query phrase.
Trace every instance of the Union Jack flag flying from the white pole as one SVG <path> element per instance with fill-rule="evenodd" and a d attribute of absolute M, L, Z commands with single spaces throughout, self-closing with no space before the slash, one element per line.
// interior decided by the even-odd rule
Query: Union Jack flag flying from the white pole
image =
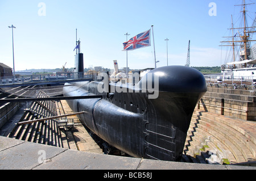
<path fill-rule="evenodd" d="M 150 46 L 150 30 L 139 33 L 123 43 L 123 50 L 134 50 Z"/>

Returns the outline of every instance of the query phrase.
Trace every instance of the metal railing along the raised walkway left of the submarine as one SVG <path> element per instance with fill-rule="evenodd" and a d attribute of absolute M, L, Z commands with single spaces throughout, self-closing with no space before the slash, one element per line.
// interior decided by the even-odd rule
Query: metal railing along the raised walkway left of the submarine
<path fill-rule="evenodd" d="M 65 81 L 71 79 L 94 79 L 96 75 L 92 72 L 79 73 L 51 73 L 51 74 L 35 74 L 35 75 L 15 75 L 9 77 L 0 77 L 0 85 L 14 85 L 16 83 L 35 83 L 35 82 L 52 82 Z"/>

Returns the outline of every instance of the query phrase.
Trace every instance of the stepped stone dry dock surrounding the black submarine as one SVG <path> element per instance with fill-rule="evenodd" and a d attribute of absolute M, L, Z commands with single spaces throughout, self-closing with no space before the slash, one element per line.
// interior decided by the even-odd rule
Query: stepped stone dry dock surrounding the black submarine
<path fill-rule="evenodd" d="M 14 116 L 0 129 L 0 169 L 255 170 L 256 122 L 246 120 L 255 112 L 255 96 L 251 90 L 209 86 L 192 116 L 182 162 L 103 154 L 76 116 L 18 124 L 73 113 L 64 100 L 21 103 L 15 114 L 17 105 L 6 104 L 1 120 Z M 245 102 L 249 106 L 231 107 Z M 245 119 L 238 117 L 241 112 L 247 113 Z M 228 165 L 221 165 L 224 161 Z"/>

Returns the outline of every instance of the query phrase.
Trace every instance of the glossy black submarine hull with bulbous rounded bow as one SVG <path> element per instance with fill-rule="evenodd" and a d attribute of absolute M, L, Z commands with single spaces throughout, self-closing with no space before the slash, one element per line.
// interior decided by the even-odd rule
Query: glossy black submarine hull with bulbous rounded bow
<path fill-rule="evenodd" d="M 193 110 L 207 91 L 203 74 L 185 66 L 151 70 L 157 75 L 157 97 L 143 83 L 109 84 L 112 93 L 99 92 L 101 82 L 77 82 L 64 86 L 65 96 L 102 95 L 102 99 L 67 100 L 81 122 L 100 138 L 133 157 L 180 161 Z M 152 79 L 154 85 L 156 79 Z M 100 85 L 101 86 L 101 85 Z M 118 92 L 117 87 L 122 87 Z M 125 91 L 126 90 L 126 91 Z"/>

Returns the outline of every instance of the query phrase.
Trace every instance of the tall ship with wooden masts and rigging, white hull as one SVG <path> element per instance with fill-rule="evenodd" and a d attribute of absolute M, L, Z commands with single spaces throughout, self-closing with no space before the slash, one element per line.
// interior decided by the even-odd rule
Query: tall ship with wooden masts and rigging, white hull
<path fill-rule="evenodd" d="M 228 77 L 232 79 L 253 79 L 256 81 L 256 40 L 254 39 L 256 16 L 255 12 L 253 18 L 248 17 L 246 10 L 247 6 L 254 3 L 246 3 L 243 0 L 240 6 L 242 8 L 240 14 L 240 24 L 235 27 L 232 17 L 232 27 L 229 28 L 231 36 L 225 37 L 221 41 L 220 46 L 230 47 L 229 60 L 226 60 L 225 65 L 221 65 L 223 78 Z"/>

